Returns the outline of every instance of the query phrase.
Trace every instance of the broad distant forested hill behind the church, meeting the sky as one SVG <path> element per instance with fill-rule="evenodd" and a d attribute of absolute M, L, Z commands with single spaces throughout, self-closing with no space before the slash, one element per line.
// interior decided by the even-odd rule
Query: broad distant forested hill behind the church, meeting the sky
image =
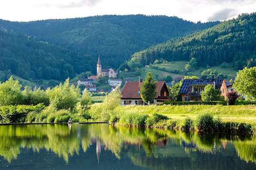
<path fill-rule="evenodd" d="M 118 68 L 136 51 L 218 23 L 195 24 L 168 16 L 106 15 L 33 22 L 0 20 L 0 28 L 14 30 L 17 34 L 36 36 L 52 44 L 72 46 L 83 54 L 94 56 L 95 61 L 100 54 L 104 67 Z"/>

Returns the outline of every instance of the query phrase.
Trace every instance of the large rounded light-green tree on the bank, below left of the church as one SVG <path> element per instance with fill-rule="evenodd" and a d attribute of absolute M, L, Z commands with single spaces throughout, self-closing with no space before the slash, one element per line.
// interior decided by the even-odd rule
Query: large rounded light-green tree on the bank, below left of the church
<path fill-rule="evenodd" d="M 50 105 L 60 109 L 74 109 L 78 99 L 80 98 L 80 89 L 74 85 L 69 84 L 69 78 L 66 79 L 64 84 L 60 83 L 53 89 L 46 90 L 50 99 Z"/>

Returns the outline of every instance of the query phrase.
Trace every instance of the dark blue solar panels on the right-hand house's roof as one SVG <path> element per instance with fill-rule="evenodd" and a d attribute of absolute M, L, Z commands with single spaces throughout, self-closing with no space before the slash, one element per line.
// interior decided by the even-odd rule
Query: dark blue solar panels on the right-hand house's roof
<path fill-rule="evenodd" d="M 213 78 L 213 79 L 185 79 L 182 82 L 182 85 L 180 87 L 179 93 L 186 93 L 189 86 L 192 85 L 207 85 L 207 84 L 214 84 L 215 85 L 221 85 L 223 79 L 221 78 Z"/>

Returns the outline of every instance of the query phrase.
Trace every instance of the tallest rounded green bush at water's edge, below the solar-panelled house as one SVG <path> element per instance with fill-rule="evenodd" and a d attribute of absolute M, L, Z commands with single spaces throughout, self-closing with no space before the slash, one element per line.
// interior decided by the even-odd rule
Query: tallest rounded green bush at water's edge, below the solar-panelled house
<path fill-rule="evenodd" d="M 212 132 L 215 128 L 211 114 L 201 114 L 197 118 L 196 126 L 200 132 Z"/>

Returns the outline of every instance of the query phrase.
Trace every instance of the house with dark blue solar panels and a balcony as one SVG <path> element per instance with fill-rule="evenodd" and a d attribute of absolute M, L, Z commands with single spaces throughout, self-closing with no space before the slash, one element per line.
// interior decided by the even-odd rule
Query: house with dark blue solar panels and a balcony
<path fill-rule="evenodd" d="M 179 93 L 182 94 L 182 101 L 200 101 L 201 92 L 208 84 L 213 85 L 216 89 L 220 89 L 221 95 L 227 98 L 228 89 L 224 79 L 185 79 L 182 82 Z"/>

